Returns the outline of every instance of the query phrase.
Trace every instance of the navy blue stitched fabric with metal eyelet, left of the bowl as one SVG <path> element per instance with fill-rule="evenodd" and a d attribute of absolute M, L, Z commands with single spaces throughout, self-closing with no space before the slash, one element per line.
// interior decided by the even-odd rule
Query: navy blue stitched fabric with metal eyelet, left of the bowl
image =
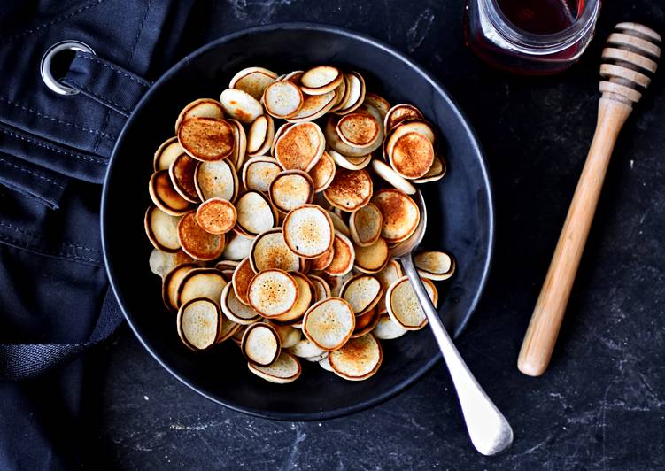
<path fill-rule="evenodd" d="M 121 320 L 104 272 L 101 183 L 128 114 L 176 59 L 192 2 L 0 3 L 0 469 L 81 466 L 89 399 L 78 354 Z M 73 54 L 58 77 L 81 90 L 73 96 L 39 71 L 66 40 L 96 52 Z"/>

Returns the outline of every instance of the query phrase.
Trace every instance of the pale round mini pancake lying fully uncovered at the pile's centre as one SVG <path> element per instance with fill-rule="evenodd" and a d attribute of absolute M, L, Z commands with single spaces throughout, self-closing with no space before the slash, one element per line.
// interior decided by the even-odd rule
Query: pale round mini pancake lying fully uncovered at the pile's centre
<path fill-rule="evenodd" d="M 291 210 L 282 228 L 284 242 L 304 259 L 321 257 L 335 238 L 335 228 L 328 212 L 317 205 L 301 205 Z"/>

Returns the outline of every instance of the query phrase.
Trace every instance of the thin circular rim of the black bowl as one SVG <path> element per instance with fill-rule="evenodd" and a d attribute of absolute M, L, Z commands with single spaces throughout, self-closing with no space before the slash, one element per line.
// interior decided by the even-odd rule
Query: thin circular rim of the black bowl
<path fill-rule="evenodd" d="M 488 252 L 483 266 L 483 273 L 481 276 L 479 288 L 478 290 L 476 290 L 476 294 L 471 300 L 471 304 L 468 307 L 467 314 L 461 320 L 458 327 L 455 328 L 455 330 L 452 332 L 453 338 L 457 338 L 458 336 L 460 336 L 461 332 L 467 327 L 468 321 L 470 320 L 472 315 L 476 312 L 476 307 L 480 302 L 481 297 L 483 296 L 483 292 L 487 284 L 487 279 L 490 274 L 491 263 L 494 255 L 494 243 L 495 243 L 494 197 L 493 197 L 493 190 L 488 171 L 487 161 L 484 157 L 483 149 L 480 145 L 476 132 L 469 124 L 466 115 L 463 112 L 461 112 L 460 107 L 452 99 L 448 91 L 439 83 L 439 81 L 437 81 L 437 79 L 435 79 L 429 72 L 427 72 L 426 69 L 415 63 L 414 60 L 412 60 L 411 58 L 408 58 L 406 54 L 390 46 L 388 43 L 375 39 L 372 36 L 364 35 L 362 33 L 358 33 L 344 27 L 336 27 L 332 25 L 326 25 L 314 22 L 282 22 L 282 23 L 270 23 L 267 25 L 262 25 L 257 27 L 244 28 L 236 32 L 229 33 L 228 35 L 220 36 L 220 38 L 213 40 L 212 42 L 206 43 L 197 50 L 190 52 L 184 58 L 176 62 L 174 66 L 171 66 L 165 73 L 160 75 L 159 79 L 152 83 L 151 88 L 148 89 L 148 91 L 145 93 L 145 95 L 143 95 L 138 104 L 136 104 L 134 111 L 130 114 L 128 120 L 125 122 L 124 126 L 122 127 L 122 130 L 120 131 L 120 135 L 118 135 L 118 139 L 116 140 L 115 145 L 113 146 L 111 158 L 109 159 L 109 163 L 106 169 L 106 174 L 104 176 L 104 187 L 102 189 L 102 198 L 101 198 L 100 225 L 101 225 L 101 235 L 102 235 L 102 251 L 104 255 L 104 267 L 106 270 L 106 274 L 109 278 L 113 294 L 115 295 L 118 304 L 120 305 L 120 310 L 125 316 L 129 328 L 131 328 L 131 330 L 134 332 L 134 335 L 143 345 L 143 348 L 151 354 L 153 359 L 156 359 L 158 361 L 159 365 L 164 367 L 168 373 L 172 374 L 174 378 L 176 378 L 178 381 L 182 382 L 184 385 L 189 387 L 189 389 L 196 391 L 201 396 L 217 404 L 228 407 L 229 409 L 239 413 L 245 413 L 254 417 L 277 420 L 277 421 L 321 421 L 326 419 L 333 419 L 336 417 L 343 417 L 345 415 L 349 415 L 352 413 L 359 413 L 375 405 L 382 404 L 383 402 L 387 401 L 390 398 L 394 398 L 400 392 L 403 392 L 404 390 L 412 386 L 415 382 L 419 381 L 422 378 L 422 376 L 424 376 L 424 374 L 428 373 L 429 370 L 432 367 L 434 367 L 437 361 L 441 359 L 441 353 L 439 352 L 435 354 L 431 359 L 429 359 L 425 363 L 425 365 L 416 370 L 414 374 L 411 374 L 406 380 L 399 382 L 398 384 L 390 388 L 390 390 L 385 390 L 381 394 L 376 395 L 374 398 L 367 399 L 365 401 L 356 403 L 354 405 L 348 405 L 345 407 L 340 407 L 329 411 L 321 411 L 313 413 L 283 413 L 283 412 L 267 411 L 263 409 L 256 409 L 253 407 L 248 407 L 246 405 L 238 404 L 235 401 L 215 398 L 213 397 L 213 395 L 208 394 L 204 390 L 199 389 L 196 384 L 189 382 L 187 378 L 182 377 L 182 375 L 176 373 L 171 367 L 169 367 L 166 364 L 165 360 L 160 358 L 159 353 L 157 351 L 153 351 L 151 346 L 148 345 L 146 341 L 143 340 L 143 336 L 140 334 L 139 330 L 136 328 L 134 322 L 132 321 L 131 313 L 128 313 L 128 310 L 125 309 L 124 297 L 122 296 L 120 291 L 116 288 L 116 277 L 113 274 L 114 272 L 113 263 L 109 258 L 108 251 L 106 250 L 107 227 L 105 224 L 105 219 L 106 219 L 105 207 L 106 207 L 106 202 L 108 200 L 108 181 L 110 179 L 110 175 L 112 174 L 112 166 L 115 165 L 116 155 L 120 149 L 120 145 L 123 143 L 125 135 L 128 133 L 128 129 L 134 125 L 135 117 L 137 115 L 136 111 L 143 108 L 143 106 L 151 100 L 151 97 L 155 89 L 159 89 L 159 87 L 166 81 L 170 80 L 175 73 L 178 73 L 183 67 L 188 66 L 189 62 L 191 62 L 195 58 L 200 57 L 209 50 L 213 50 L 219 47 L 220 44 L 233 41 L 238 38 L 242 38 L 244 36 L 256 35 L 258 33 L 269 33 L 275 30 L 285 30 L 285 29 L 320 31 L 320 32 L 323 31 L 334 35 L 342 35 L 347 38 L 351 38 L 352 40 L 355 41 L 365 42 L 371 46 L 374 46 L 379 50 L 383 50 L 384 53 L 390 54 L 395 58 L 398 58 L 398 60 L 403 61 L 407 66 L 409 66 L 414 71 L 414 73 L 418 73 L 419 75 L 421 75 L 421 78 L 427 81 L 429 85 L 433 89 L 435 89 L 437 93 L 441 95 L 441 97 L 443 97 L 443 99 L 446 102 L 448 102 L 450 108 L 452 109 L 452 112 L 457 116 L 460 123 L 464 127 L 466 135 L 468 136 L 468 139 L 471 143 L 472 151 L 474 151 L 474 153 L 478 157 L 481 173 L 483 175 L 483 183 L 485 188 L 487 189 L 486 191 L 487 205 L 488 205 L 487 218 L 488 218 L 489 227 L 488 227 Z"/>

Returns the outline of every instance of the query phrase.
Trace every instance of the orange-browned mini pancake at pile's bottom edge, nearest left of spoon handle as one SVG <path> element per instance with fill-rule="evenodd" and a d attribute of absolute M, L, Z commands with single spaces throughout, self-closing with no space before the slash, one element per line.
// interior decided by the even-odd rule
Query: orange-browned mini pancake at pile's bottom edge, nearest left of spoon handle
<path fill-rule="evenodd" d="M 331 351 L 328 361 L 333 372 L 349 381 L 362 381 L 381 367 L 383 351 L 372 334 L 350 339 L 344 346 Z"/>

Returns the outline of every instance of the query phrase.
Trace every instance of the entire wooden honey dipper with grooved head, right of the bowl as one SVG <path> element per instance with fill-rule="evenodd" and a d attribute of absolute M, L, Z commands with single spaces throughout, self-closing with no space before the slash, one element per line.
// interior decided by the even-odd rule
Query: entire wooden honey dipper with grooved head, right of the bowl
<path fill-rule="evenodd" d="M 517 360 L 517 367 L 523 374 L 539 376 L 550 362 L 609 158 L 632 105 L 642 97 L 642 91 L 656 71 L 661 56 L 661 48 L 657 45 L 660 42 L 661 36 L 653 29 L 637 23 L 619 23 L 607 39 L 600 66 L 602 97 L 596 133 L 524 336 Z"/>

